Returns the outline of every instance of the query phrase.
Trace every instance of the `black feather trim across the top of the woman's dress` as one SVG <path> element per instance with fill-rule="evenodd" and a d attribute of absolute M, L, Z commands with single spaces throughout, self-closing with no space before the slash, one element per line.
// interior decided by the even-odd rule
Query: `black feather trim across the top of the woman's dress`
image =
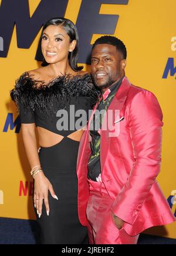
<path fill-rule="evenodd" d="M 90 74 L 67 74 L 56 77 L 46 84 L 34 80 L 32 75 L 25 72 L 16 80 L 15 87 L 11 90 L 11 98 L 18 108 L 21 103 L 26 112 L 35 111 L 35 107 L 38 107 L 41 112 L 47 114 L 55 111 L 55 100 L 59 102 L 59 108 L 63 108 L 70 101 L 70 97 L 89 97 L 93 107 L 98 96 L 99 91 L 93 86 Z"/>

